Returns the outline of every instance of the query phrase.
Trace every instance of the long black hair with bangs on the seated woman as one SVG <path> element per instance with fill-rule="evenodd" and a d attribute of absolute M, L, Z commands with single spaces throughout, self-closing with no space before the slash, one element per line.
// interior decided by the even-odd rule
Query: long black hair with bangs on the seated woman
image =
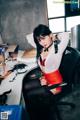
<path fill-rule="evenodd" d="M 40 56 L 40 53 L 42 51 L 42 46 L 39 44 L 40 36 L 46 36 L 50 35 L 52 32 L 50 31 L 49 27 L 43 24 L 39 24 L 34 30 L 33 30 L 33 37 L 34 42 L 36 43 L 37 47 L 37 58 Z"/>

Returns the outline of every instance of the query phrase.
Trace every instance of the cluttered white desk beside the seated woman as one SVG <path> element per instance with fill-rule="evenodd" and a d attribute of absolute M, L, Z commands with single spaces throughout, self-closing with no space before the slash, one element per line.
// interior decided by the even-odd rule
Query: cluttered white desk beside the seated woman
<path fill-rule="evenodd" d="M 17 62 L 15 62 L 15 63 L 12 62 L 12 63 L 16 64 Z M 11 63 L 9 63 L 9 65 L 10 64 Z M 27 72 L 29 72 L 29 70 L 31 70 L 32 68 L 34 68 L 36 66 L 37 66 L 36 63 L 28 64 Z M 20 104 L 21 95 L 22 95 L 22 81 L 23 81 L 25 74 L 27 74 L 27 72 L 25 72 L 23 74 L 18 74 L 16 76 L 15 80 L 13 82 L 10 82 L 10 80 L 12 80 L 13 77 L 15 76 L 15 72 L 16 71 L 12 72 L 9 76 L 7 76 L 7 78 L 4 79 L 0 85 L 0 94 L 2 94 L 4 91 L 8 91 L 8 90 L 12 89 L 11 93 L 8 94 L 8 99 L 7 99 L 8 105 Z"/>

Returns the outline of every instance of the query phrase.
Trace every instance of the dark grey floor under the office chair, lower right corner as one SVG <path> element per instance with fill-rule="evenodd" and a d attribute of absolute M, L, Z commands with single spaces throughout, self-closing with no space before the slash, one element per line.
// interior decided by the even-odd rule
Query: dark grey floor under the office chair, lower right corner
<path fill-rule="evenodd" d="M 65 98 L 66 100 L 75 103 L 75 109 L 70 109 L 69 106 L 59 106 L 63 120 L 80 120 L 80 85 L 75 88 L 73 94 Z"/>

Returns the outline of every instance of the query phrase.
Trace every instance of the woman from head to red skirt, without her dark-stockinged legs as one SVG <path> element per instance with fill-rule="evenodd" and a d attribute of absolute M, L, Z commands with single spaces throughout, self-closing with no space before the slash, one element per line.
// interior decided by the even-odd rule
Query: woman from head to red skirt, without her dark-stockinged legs
<path fill-rule="evenodd" d="M 37 46 L 38 64 L 43 72 L 43 77 L 40 79 L 41 85 L 62 83 L 63 78 L 59 66 L 63 52 L 68 45 L 68 33 L 65 32 L 64 37 L 59 40 L 57 35 L 52 34 L 48 26 L 40 24 L 34 29 L 33 37 Z M 53 94 L 58 94 L 61 92 L 61 87 L 51 91 Z"/>

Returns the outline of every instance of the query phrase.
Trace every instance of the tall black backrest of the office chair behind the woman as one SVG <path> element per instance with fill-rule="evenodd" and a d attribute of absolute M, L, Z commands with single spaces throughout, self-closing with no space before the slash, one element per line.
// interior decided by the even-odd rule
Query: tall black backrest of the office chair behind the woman
<path fill-rule="evenodd" d="M 75 71 L 79 59 L 80 54 L 78 50 L 71 47 L 66 48 L 59 69 L 63 76 L 63 81 L 68 83 L 67 90 L 71 89 L 72 85 L 74 84 Z"/>

